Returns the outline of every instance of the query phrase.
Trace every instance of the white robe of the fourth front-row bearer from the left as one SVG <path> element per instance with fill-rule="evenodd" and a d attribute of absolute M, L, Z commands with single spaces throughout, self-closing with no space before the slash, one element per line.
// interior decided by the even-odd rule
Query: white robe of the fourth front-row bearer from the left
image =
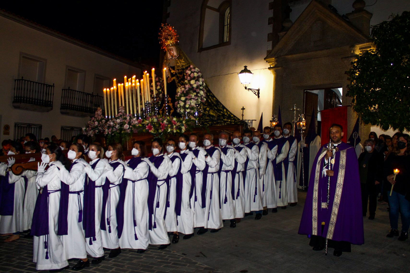
<path fill-rule="evenodd" d="M 105 219 L 101 219 L 101 221 L 105 221 L 105 230 L 101 230 L 101 238 L 103 241 L 103 248 L 119 248 L 120 244 L 118 242 L 118 232 L 117 232 L 117 215 L 116 215 L 116 207 L 118 205 L 118 200 L 120 199 L 120 189 L 118 187 L 123 180 L 123 173 L 124 173 L 124 162 L 120 159 L 116 159 L 114 161 L 109 162 L 112 164 L 114 162 L 120 162 L 121 164 L 118 165 L 114 170 L 105 169 L 104 175 L 109 180 L 109 190 L 108 190 L 108 198 L 105 204 Z M 111 233 L 109 232 L 107 218 L 109 218 L 109 223 L 111 226 Z"/>

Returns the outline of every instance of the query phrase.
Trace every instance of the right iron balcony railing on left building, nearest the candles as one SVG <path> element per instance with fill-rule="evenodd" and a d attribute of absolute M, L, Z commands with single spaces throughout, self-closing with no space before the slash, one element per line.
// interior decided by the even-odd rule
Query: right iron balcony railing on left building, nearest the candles
<path fill-rule="evenodd" d="M 73 110 L 93 114 L 103 107 L 103 97 L 77 90 L 62 89 L 60 110 Z"/>

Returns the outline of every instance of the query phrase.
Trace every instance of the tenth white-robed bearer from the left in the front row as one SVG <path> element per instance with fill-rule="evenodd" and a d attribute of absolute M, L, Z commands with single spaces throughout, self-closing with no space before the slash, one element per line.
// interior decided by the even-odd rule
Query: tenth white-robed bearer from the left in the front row
<path fill-rule="evenodd" d="M 219 160 L 221 153 L 212 145 L 214 136 L 204 134 L 203 144 L 205 148 L 205 168 L 202 171 L 202 207 L 205 208 L 204 227 L 201 227 L 197 234 L 201 235 L 211 228 L 211 232 L 218 232 L 222 227 L 221 204 L 219 202 Z"/>

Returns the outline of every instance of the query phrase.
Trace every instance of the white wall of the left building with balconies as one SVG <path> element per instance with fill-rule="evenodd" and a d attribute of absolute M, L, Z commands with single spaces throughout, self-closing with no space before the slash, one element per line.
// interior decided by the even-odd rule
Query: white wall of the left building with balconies
<path fill-rule="evenodd" d="M 59 137 L 62 125 L 82 127 L 87 123 L 89 118 L 60 114 L 62 89 L 65 88 L 66 66 L 85 71 L 84 92 L 87 93 L 93 92 L 96 74 L 111 79 L 117 78 L 121 82 L 124 75 L 139 75 L 141 73 L 139 68 L 76 46 L 2 16 L 0 16 L 0 26 L 0 37 L 2 37 L 0 39 L 1 140 L 13 139 L 15 122 L 42 124 L 41 136 L 43 138 L 52 135 Z M 107 33 L 107 35 L 109 34 Z M 103 37 L 101 38 L 103 39 Z M 20 52 L 47 60 L 44 83 L 55 84 L 52 111 L 41 113 L 12 107 L 14 80 L 18 79 Z M 98 95 L 103 96 L 103 91 L 101 90 Z M 8 136 L 2 134 L 2 128 L 5 124 L 10 125 L 10 135 Z"/>

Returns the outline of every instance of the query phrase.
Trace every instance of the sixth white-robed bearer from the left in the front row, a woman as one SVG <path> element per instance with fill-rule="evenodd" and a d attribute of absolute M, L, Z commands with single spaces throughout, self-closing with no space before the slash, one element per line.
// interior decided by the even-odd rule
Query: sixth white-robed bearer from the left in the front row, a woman
<path fill-rule="evenodd" d="M 164 220 L 166 208 L 168 169 L 171 167 L 169 157 L 162 154 L 162 140 L 155 138 L 151 145 L 153 156 L 143 158 L 150 167 L 148 176 L 150 196 L 148 196 L 148 209 L 150 209 L 151 225 L 149 225 L 150 244 L 159 245 L 158 249 L 165 249 L 170 245 Z"/>

